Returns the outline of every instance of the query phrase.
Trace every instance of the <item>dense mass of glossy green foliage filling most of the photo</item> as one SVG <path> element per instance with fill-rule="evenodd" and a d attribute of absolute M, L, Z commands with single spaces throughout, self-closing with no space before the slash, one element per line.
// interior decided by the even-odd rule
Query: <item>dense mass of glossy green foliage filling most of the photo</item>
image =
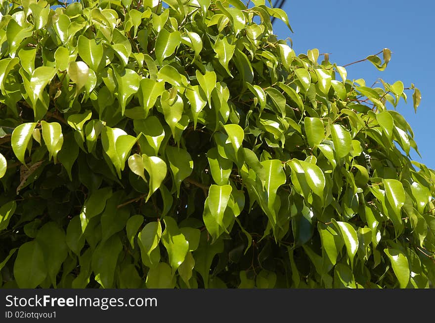
<path fill-rule="evenodd" d="M 414 85 L 296 55 L 264 0 L 0 3 L 3 287 L 432 287 Z"/>

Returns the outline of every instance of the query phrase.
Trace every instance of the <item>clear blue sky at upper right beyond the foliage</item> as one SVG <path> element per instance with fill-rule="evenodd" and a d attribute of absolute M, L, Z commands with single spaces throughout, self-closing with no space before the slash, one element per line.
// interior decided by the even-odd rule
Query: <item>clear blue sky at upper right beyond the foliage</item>
<path fill-rule="evenodd" d="M 272 1 L 275 4 L 275 0 Z M 331 63 L 346 65 L 376 54 L 384 47 L 392 58 L 383 72 L 370 62 L 347 67 L 348 79 L 364 78 L 368 86 L 378 78 L 388 83 L 397 80 L 405 87 L 414 83 L 422 94 L 417 113 L 403 99 L 397 106 L 414 131 L 414 140 L 422 158 L 411 148 L 411 158 L 435 169 L 435 1 L 431 0 L 286 0 L 286 11 L 292 34 L 275 19 L 273 32 L 280 39 L 293 40 L 296 54 L 318 48 L 331 53 Z M 382 55 L 381 55 L 382 58 Z M 319 57 L 319 62 L 322 57 Z M 376 85 L 382 87 L 382 84 Z M 393 107 L 388 104 L 388 109 Z"/>

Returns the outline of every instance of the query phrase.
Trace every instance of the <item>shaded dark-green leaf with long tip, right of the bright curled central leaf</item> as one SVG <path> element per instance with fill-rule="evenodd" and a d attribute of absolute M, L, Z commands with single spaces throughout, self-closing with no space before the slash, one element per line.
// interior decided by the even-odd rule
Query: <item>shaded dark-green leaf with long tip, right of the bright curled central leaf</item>
<path fill-rule="evenodd" d="M 172 146 L 166 147 L 166 156 L 174 176 L 177 197 L 179 197 L 181 182 L 192 174 L 193 160 L 187 150 Z"/>

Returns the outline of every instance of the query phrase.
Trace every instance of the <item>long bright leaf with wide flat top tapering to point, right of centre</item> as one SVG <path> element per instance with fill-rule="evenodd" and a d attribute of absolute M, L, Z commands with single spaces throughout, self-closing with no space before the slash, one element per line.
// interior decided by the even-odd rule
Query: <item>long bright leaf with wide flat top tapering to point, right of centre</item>
<path fill-rule="evenodd" d="M 276 223 L 274 210 L 276 192 L 279 186 L 285 184 L 286 175 L 284 174 L 280 160 L 264 160 L 261 162 L 261 166 L 264 168 L 265 172 L 264 189 L 266 192 L 267 207 L 272 215 L 272 221 Z"/>

